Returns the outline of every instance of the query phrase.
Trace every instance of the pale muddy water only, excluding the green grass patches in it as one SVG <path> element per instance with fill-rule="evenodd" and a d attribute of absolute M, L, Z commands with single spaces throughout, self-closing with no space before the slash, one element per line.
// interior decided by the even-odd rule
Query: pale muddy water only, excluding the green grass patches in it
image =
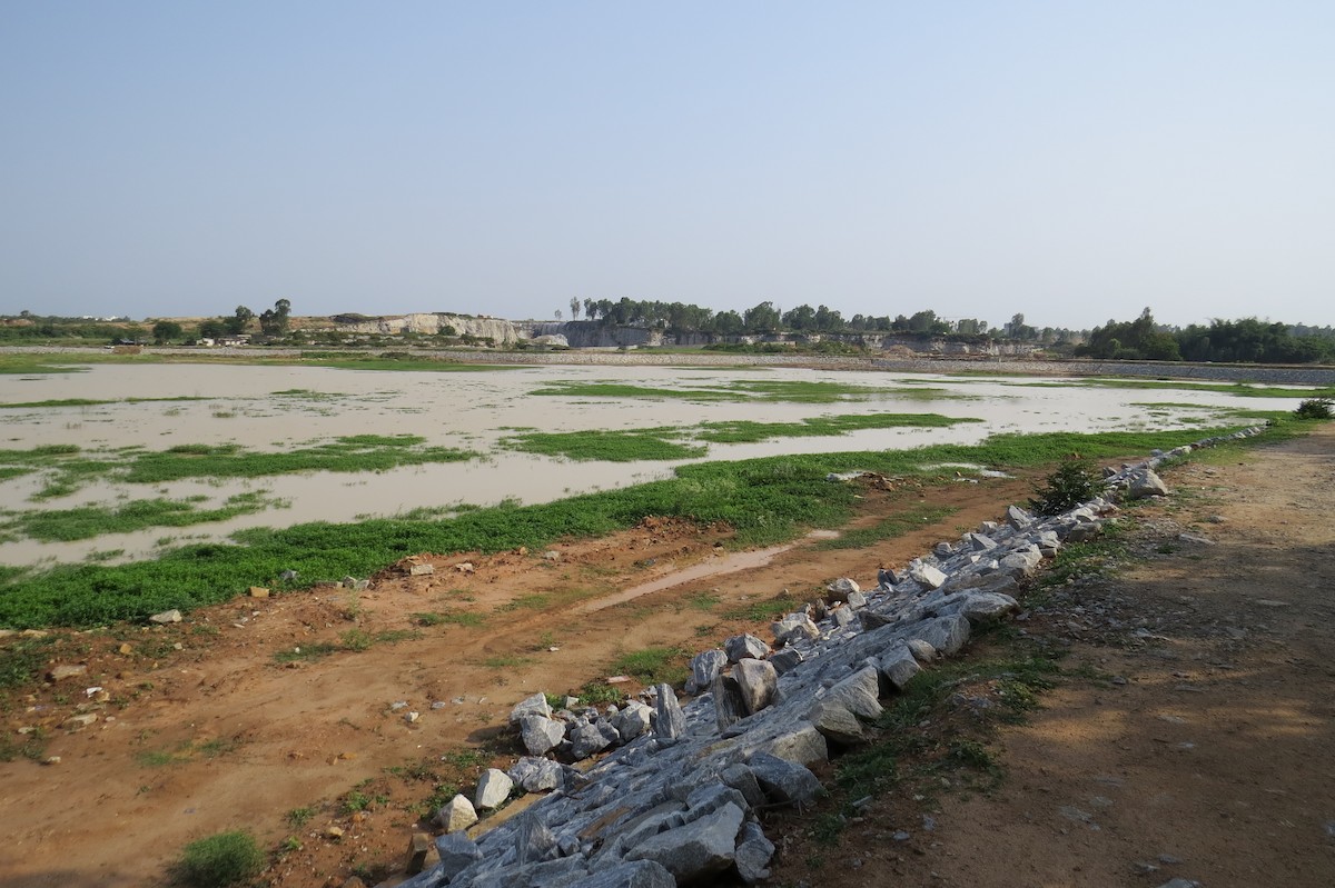
<path fill-rule="evenodd" d="M 902 387 L 840 404 L 706 401 L 533 396 L 563 380 L 614 381 L 657 389 L 728 385 L 738 380 L 834 379 L 866 388 Z M 1056 380 L 1055 380 L 1056 381 Z M 945 389 L 933 397 L 926 388 Z M 933 443 L 972 444 L 995 432 L 1089 432 L 1117 428 L 1172 428 L 1208 417 L 1208 411 L 1147 409 L 1147 401 L 1210 407 L 1284 409 L 1283 400 L 1247 399 L 1188 391 L 1135 391 L 1011 385 L 1005 380 L 955 379 L 874 372 L 806 369 L 570 367 L 541 365 L 469 373 L 346 371 L 255 365 L 97 365 L 83 373 L 0 376 L 0 404 L 63 399 L 172 399 L 91 407 L 8 408 L 0 411 L 0 447 L 28 449 L 77 444 L 87 449 L 235 443 L 280 451 L 344 435 L 411 433 L 430 444 L 475 451 L 469 463 L 411 467 L 379 473 L 311 472 L 298 476 L 179 481 L 166 485 L 99 484 L 44 503 L 28 497 L 41 477 L 0 481 L 0 504 L 9 511 L 113 504 L 129 499 L 204 495 L 207 504 L 260 491 L 284 508 L 183 529 L 107 535 L 80 543 L 0 543 L 0 564 L 81 560 L 93 552 L 124 549 L 142 557 L 180 541 L 223 539 L 242 528 L 280 527 L 312 520 L 352 521 L 421 507 L 487 505 L 506 499 L 550 501 L 562 496 L 625 487 L 668 476 L 678 463 L 573 463 L 505 451 L 498 441 L 517 428 L 549 432 L 692 427 L 702 421 L 800 419 L 880 412 L 934 412 L 983 423 L 943 429 L 868 429 L 837 437 L 780 439 L 761 444 L 712 445 L 708 459 L 748 459 L 782 453 L 910 448 Z M 1139 403 L 1139 404 L 1137 404 Z"/>

